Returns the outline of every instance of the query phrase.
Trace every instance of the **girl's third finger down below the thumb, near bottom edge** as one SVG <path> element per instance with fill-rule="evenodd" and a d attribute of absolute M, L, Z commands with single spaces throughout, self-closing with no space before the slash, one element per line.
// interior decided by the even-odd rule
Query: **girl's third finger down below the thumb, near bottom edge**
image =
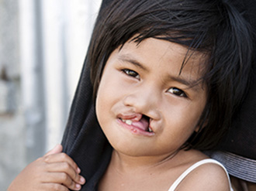
<path fill-rule="evenodd" d="M 81 185 L 74 182 L 65 172 L 50 172 L 43 179 L 43 183 L 63 184 L 68 189 L 79 190 Z"/>

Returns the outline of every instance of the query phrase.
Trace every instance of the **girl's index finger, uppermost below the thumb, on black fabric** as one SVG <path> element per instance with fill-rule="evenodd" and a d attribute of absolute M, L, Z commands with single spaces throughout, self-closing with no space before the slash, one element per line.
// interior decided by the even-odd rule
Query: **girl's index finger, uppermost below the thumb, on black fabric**
<path fill-rule="evenodd" d="M 44 156 L 44 161 L 47 163 L 67 162 L 69 165 L 71 165 L 75 172 L 77 172 L 78 174 L 81 172 L 81 170 L 78 168 L 78 165 L 73 161 L 73 159 L 71 159 L 71 157 L 64 152 L 53 155 L 46 155 Z"/>

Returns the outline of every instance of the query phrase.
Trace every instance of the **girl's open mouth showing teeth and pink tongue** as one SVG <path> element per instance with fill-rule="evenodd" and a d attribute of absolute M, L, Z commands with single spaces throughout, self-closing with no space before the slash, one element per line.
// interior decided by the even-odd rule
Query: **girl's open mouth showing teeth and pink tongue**
<path fill-rule="evenodd" d="M 120 121 L 123 121 L 131 130 L 144 131 L 150 134 L 154 134 L 152 128 L 150 128 L 150 118 L 144 114 L 140 114 L 140 118 L 119 118 Z"/>

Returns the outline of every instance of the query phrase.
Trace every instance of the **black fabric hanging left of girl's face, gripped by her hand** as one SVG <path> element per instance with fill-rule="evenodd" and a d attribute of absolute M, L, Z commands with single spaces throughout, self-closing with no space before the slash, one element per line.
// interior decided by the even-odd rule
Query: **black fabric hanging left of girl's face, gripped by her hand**
<path fill-rule="evenodd" d="M 101 9 L 109 2 L 110 0 L 104 0 Z M 86 179 L 81 190 L 93 191 L 106 171 L 112 147 L 96 119 L 90 70 L 87 66 L 88 60 L 85 58 L 61 144 L 64 152 L 78 164 L 81 176 Z"/>

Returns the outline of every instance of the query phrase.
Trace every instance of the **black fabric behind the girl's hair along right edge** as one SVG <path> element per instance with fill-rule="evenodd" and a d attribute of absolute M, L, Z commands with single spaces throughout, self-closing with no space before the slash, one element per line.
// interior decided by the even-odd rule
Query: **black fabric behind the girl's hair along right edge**
<path fill-rule="evenodd" d="M 244 18 L 251 23 L 256 33 L 256 1 L 234 1 L 237 9 L 244 12 Z M 244 4 L 244 5 L 243 5 Z M 256 39 L 254 39 L 254 48 Z M 256 55 L 256 50 L 255 50 Z M 248 159 L 256 160 L 256 61 L 252 70 L 250 89 L 240 110 L 235 115 L 232 128 L 227 137 L 223 138 L 220 150 L 232 152 Z"/>

